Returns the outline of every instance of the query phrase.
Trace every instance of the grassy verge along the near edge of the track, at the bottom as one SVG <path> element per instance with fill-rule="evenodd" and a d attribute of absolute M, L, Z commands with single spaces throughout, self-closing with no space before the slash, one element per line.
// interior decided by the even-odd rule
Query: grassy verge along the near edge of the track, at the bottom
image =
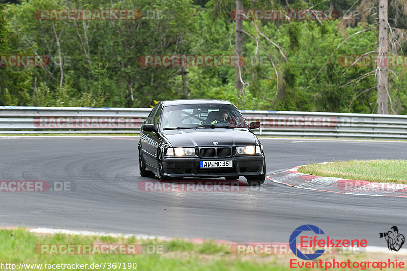
<path fill-rule="evenodd" d="M 139 253 L 133 255 L 108 254 L 108 255 L 62 255 L 40 253 L 36 246 L 41 244 L 140 244 L 143 247 L 162 246 L 163 253 Z M 49 250 L 51 251 L 51 250 Z M 150 250 L 152 251 L 152 250 Z M 322 255 L 318 257 L 322 261 L 387 261 L 398 259 L 400 262 L 407 261 L 407 255 L 390 255 L 383 253 L 339 253 L 333 255 Z M 26 265 L 20 270 L 134 270 L 128 265 L 137 264 L 137 270 L 291 270 L 290 260 L 296 260 L 302 264 L 302 261 L 296 258 L 292 253 L 284 255 L 236 255 L 231 253 L 230 245 L 215 244 L 206 242 L 196 244 L 188 240 L 141 240 L 135 237 L 114 238 L 97 236 L 79 236 L 64 234 L 34 234 L 24 228 L 19 229 L 0 229 L 0 264 L 15 264 L 14 270 L 18 269 L 20 263 L 23 264 L 42 264 L 41 267 Z M 110 268 L 109 267 L 109 263 Z M 115 265 L 113 265 L 115 263 Z M 121 263 L 121 267 L 119 267 Z M 46 265 L 55 265 L 52 268 Z M 75 267 L 59 268 L 56 264 L 75 265 Z M 76 267 L 76 264 L 86 264 L 86 267 Z M 93 268 L 91 265 L 93 264 Z M 101 268 L 95 264 L 101 265 Z M 104 265 L 103 265 L 104 264 Z M 134 265 L 133 265 L 134 266 Z M 11 266 L 0 269 L 11 270 Z M 296 268 L 296 267 L 293 267 Z M 298 266 L 297 266 L 298 268 Z M 323 270 L 323 269 L 322 269 Z M 338 270 L 338 269 L 336 269 Z M 341 270 L 341 269 L 339 269 Z M 344 269 L 342 269 L 344 270 Z M 367 268 L 366 270 L 372 270 Z M 385 269 L 388 270 L 388 269 Z"/>

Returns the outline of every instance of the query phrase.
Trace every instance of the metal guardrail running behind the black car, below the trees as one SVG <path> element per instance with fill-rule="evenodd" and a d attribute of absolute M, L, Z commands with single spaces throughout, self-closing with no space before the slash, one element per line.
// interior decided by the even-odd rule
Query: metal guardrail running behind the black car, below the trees
<path fill-rule="evenodd" d="M 0 134 L 139 133 L 151 108 L 0 106 Z M 281 137 L 407 139 L 406 115 L 241 110 L 256 134 Z"/>

